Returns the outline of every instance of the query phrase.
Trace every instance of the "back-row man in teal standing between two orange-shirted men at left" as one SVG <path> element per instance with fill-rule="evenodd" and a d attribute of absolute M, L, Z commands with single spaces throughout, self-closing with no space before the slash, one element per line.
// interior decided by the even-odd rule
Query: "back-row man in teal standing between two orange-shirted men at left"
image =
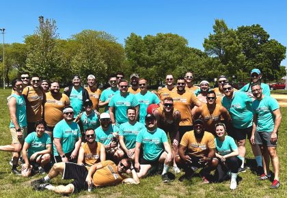
<path fill-rule="evenodd" d="M 64 94 L 70 98 L 70 105 L 74 110 L 74 118 L 76 118 L 81 111 L 84 111 L 83 102 L 85 102 L 87 99 L 90 99 L 87 90 L 81 86 L 80 76 L 74 76 L 72 79 L 72 86 L 66 87 L 64 89 Z"/>

